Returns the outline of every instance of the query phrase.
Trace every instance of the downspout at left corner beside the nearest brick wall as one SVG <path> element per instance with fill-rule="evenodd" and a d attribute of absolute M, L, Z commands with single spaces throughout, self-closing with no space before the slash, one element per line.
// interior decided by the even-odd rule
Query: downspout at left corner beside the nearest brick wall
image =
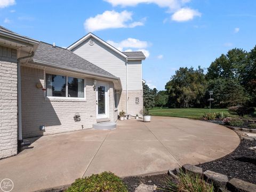
<path fill-rule="evenodd" d="M 18 139 L 18 151 L 21 151 L 21 147 L 29 146 L 30 142 L 23 142 L 22 139 L 22 121 L 21 121 L 21 73 L 20 73 L 20 60 L 27 59 L 34 56 L 34 51 L 31 52 L 30 55 L 25 57 L 21 57 L 17 59 L 17 68 L 18 68 L 18 129 L 19 129 L 19 139 Z"/>

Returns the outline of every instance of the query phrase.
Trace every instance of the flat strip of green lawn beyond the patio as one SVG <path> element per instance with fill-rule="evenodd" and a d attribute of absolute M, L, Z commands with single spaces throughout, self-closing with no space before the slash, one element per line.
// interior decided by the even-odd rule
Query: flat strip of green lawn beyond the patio
<path fill-rule="evenodd" d="M 222 112 L 228 114 L 230 117 L 235 117 L 236 115 L 231 115 L 228 109 L 211 109 L 211 113 Z M 159 108 L 155 107 L 149 110 L 149 114 L 153 116 L 169 116 L 169 117 L 184 117 L 184 118 L 194 118 L 199 119 L 202 114 L 209 112 L 207 108 Z"/>

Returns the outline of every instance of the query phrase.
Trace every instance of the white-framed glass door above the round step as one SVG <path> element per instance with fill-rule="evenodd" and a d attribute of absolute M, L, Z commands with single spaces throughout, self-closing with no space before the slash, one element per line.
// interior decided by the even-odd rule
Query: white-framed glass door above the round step
<path fill-rule="evenodd" d="M 108 118 L 108 90 L 106 84 L 97 84 L 97 119 Z"/>

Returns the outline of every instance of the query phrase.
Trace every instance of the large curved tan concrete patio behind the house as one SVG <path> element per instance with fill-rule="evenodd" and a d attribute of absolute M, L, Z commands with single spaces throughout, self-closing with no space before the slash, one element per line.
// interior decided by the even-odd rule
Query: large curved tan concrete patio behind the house
<path fill-rule="evenodd" d="M 166 172 L 225 156 L 239 145 L 226 127 L 174 117 L 150 123 L 118 121 L 111 131 L 83 130 L 36 138 L 30 149 L 0 161 L 0 180 L 12 191 L 66 185 L 76 178 L 111 171 L 120 177 Z"/>

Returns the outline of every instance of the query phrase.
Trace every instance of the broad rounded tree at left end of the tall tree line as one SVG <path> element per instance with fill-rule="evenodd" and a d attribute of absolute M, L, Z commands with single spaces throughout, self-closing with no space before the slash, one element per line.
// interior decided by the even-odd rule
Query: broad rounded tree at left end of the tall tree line
<path fill-rule="evenodd" d="M 168 107 L 191 107 L 200 105 L 205 93 L 204 70 L 199 66 L 183 68 L 175 71 L 175 75 L 166 83 Z"/>

